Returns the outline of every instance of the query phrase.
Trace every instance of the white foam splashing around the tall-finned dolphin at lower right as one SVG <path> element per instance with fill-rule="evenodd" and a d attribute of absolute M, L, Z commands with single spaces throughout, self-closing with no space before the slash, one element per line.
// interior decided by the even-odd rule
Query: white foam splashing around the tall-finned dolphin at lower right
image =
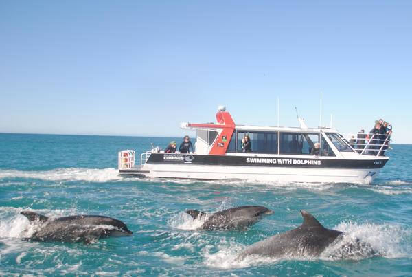
<path fill-rule="evenodd" d="M 277 263 L 282 260 L 361 260 L 370 258 L 371 256 L 383 256 L 385 258 L 412 258 L 412 232 L 399 225 L 344 222 L 333 229 L 341 230 L 345 232 L 345 235 L 340 241 L 327 247 L 321 256 L 317 258 L 301 255 L 282 256 L 277 258 L 251 255 L 239 259 L 238 254 L 240 254 L 246 247 L 222 238 L 216 246 L 207 245 L 203 247 L 203 263 L 209 267 L 231 269 L 250 267 L 259 264 Z M 357 242 L 361 242 L 361 248 L 352 249 L 351 247 L 347 247 L 347 245 L 354 245 L 354 243 Z"/>

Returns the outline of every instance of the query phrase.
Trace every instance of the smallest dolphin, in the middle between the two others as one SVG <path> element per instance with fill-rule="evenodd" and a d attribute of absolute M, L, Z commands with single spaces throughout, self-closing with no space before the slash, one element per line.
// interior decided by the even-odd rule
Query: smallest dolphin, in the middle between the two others
<path fill-rule="evenodd" d="M 240 206 L 215 212 L 210 215 L 205 212 L 199 212 L 198 210 L 187 210 L 185 212 L 190 214 L 193 219 L 203 219 L 207 217 L 205 223 L 201 226 L 201 229 L 204 230 L 245 230 L 260 221 L 265 215 L 273 214 L 272 210 L 263 206 Z"/>

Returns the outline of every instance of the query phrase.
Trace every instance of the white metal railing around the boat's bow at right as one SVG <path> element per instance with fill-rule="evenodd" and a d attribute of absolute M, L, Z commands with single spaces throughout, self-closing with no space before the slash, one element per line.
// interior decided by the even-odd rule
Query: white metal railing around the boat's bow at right
<path fill-rule="evenodd" d="M 345 140 L 361 155 L 382 156 L 389 149 L 391 134 L 357 133 L 345 136 Z"/>

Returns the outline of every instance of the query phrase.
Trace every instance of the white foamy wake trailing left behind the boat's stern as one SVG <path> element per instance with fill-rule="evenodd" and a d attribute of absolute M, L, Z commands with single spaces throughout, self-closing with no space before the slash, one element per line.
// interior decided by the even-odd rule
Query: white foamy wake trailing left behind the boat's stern
<path fill-rule="evenodd" d="M 119 176 L 117 169 L 115 168 L 56 168 L 54 170 L 47 171 L 0 170 L 0 179 L 5 178 L 90 182 L 122 180 L 122 177 Z"/>

